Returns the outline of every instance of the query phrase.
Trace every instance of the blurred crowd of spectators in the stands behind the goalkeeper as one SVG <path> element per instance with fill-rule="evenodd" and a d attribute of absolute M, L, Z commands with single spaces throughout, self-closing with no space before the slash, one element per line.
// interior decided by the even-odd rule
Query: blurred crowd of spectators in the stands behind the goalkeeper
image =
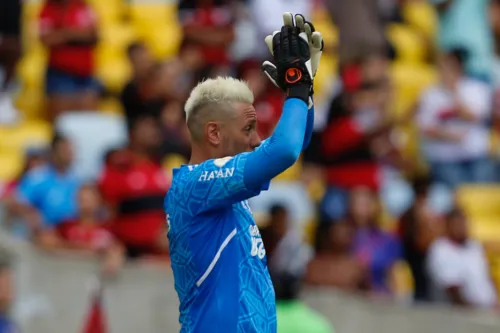
<path fill-rule="evenodd" d="M 291 11 L 334 32 L 324 32 L 311 145 L 252 206 L 266 213 L 256 217 L 278 298 L 296 298 L 300 281 L 392 298 L 408 292 L 406 272 L 415 301 L 497 307 L 488 256 L 498 246 L 470 232 L 457 191 L 500 181 L 500 1 L 180 0 L 180 42 L 161 31 L 176 52 L 158 57 L 146 40 L 127 43 L 131 73 L 119 91 L 96 74 L 104 23 L 94 5 L 42 3 L 38 120 L 54 130 L 48 145 L 25 147 L 24 168 L 3 180 L 2 224 L 14 235 L 45 251 L 101 256 L 105 274 L 126 259 L 168 263 L 163 197 L 171 169 L 190 154 L 183 103 L 203 78 L 242 78 L 268 137 L 283 96 L 261 72 L 263 39 Z M 26 118 L 12 99 L 21 27 L 20 1 L 2 0 L 4 127 Z M 125 140 L 103 146 L 114 127 L 99 110 L 110 97 Z M 82 176 L 89 163 L 77 156 L 89 145 L 101 145 L 100 162 Z"/>

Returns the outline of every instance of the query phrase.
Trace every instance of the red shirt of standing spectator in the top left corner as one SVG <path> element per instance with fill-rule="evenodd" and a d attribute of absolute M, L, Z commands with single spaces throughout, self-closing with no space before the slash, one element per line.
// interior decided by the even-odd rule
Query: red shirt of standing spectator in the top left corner
<path fill-rule="evenodd" d="M 104 0 L 105 1 L 105 0 Z M 95 27 L 97 19 L 92 8 L 81 0 L 66 4 L 47 1 L 40 13 L 40 33 L 58 29 L 87 29 Z M 51 68 L 79 76 L 94 72 L 93 45 L 60 45 L 49 52 Z"/>

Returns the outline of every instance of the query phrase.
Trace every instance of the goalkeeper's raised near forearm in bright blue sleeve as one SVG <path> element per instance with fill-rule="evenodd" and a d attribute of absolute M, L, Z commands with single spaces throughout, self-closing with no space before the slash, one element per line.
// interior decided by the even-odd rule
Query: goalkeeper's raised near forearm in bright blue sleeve
<path fill-rule="evenodd" d="M 307 114 L 304 101 L 286 100 L 273 135 L 246 160 L 244 180 L 248 188 L 262 186 L 295 163 L 304 145 Z"/>

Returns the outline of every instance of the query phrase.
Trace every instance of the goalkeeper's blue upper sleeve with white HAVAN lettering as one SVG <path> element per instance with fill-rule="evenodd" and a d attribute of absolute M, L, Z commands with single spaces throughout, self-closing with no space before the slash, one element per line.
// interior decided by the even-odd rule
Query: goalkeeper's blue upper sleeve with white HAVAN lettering
<path fill-rule="evenodd" d="M 184 191 L 188 205 L 198 213 L 230 206 L 249 199 L 269 188 L 269 181 L 259 187 L 245 184 L 245 168 L 251 153 L 208 160 L 197 166 L 188 166 Z M 248 172 L 248 171 L 247 171 Z M 198 207 L 196 207 L 198 206 Z"/>

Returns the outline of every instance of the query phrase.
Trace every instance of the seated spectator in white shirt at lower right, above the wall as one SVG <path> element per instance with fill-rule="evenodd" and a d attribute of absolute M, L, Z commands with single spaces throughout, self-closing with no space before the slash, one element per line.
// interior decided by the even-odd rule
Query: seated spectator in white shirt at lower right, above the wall
<path fill-rule="evenodd" d="M 433 298 L 460 306 L 491 308 L 497 303 L 483 246 L 470 238 L 464 212 L 446 216 L 445 235 L 431 246 L 428 270 Z"/>

